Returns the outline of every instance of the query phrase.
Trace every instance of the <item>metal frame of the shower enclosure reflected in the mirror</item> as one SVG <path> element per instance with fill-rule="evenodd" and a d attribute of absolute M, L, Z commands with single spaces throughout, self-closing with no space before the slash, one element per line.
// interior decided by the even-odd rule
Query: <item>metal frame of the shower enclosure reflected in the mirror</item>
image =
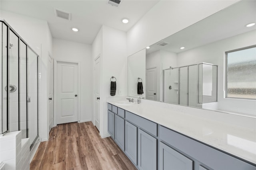
<path fill-rule="evenodd" d="M 170 68 L 166 68 L 166 69 L 163 69 L 163 102 L 164 102 L 164 71 L 165 70 L 173 70 L 175 68 L 178 68 L 178 104 L 180 104 L 180 68 L 182 67 L 187 67 L 187 105 L 188 106 L 188 100 L 189 100 L 189 93 L 188 93 L 188 84 L 189 84 L 189 66 L 197 66 L 197 74 L 196 74 L 196 81 L 197 81 L 197 92 L 196 92 L 196 97 L 197 97 L 197 104 L 203 104 L 203 103 L 200 103 L 199 102 L 199 65 L 200 64 L 207 64 L 207 65 L 212 65 L 212 66 L 216 66 L 217 69 L 216 69 L 216 84 L 218 84 L 218 65 L 216 64 L 210 64 L 210 63 L 198 63 L 198 64 L 190 64 L 190 65 L 185 65 L 185 66 L 179 66 L 179 67 L 170 67 Z M 218 85 L 216 86 L 216 102 L 218 101 Z"/>

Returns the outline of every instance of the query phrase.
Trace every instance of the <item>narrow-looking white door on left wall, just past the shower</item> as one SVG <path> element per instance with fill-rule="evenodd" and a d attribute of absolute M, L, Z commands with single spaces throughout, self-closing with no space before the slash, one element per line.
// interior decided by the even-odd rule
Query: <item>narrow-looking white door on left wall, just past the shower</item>
<path fill-rule="evenodd" d="M 53 60 L 52 57 L 48 56 L 48 96 L 49 96 L 49 115 L 48 125 L 50 132 L 53 124 Z"/>

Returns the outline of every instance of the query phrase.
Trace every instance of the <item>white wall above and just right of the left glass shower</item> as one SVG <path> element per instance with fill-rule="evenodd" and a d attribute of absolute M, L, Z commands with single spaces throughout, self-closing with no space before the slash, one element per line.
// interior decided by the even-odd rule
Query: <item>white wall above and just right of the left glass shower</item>
<path fill-rule="evenodd" d="M 48 89 L 47 64 L 48 52 L 52 54 L 52 35 L 47 21 L 14 14 L 1 10 L 1 18 L 6 20 L 12 28 L 32 47 L 39 55 L 39 84 L 38 84 L 38 110 L 39 135 L 42 141 L 48 140 Z M 41 76 L 41 77 L 40 77 Z"/>

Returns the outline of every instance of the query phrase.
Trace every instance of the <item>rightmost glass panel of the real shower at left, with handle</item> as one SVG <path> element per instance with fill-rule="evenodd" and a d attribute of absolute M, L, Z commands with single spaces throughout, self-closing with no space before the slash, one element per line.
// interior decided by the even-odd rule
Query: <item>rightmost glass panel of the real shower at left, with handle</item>
<path fill-rule="evenodd" d="M 27 109 L 30 144 L 38 135 L 37 55 L 27 48 Z"/>

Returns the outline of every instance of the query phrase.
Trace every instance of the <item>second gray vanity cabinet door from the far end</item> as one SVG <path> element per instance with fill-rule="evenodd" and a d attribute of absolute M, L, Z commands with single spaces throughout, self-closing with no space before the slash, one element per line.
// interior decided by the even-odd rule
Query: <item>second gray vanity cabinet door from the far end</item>
<path fill-rule="evenodd" d="M 115 141 L 124 150 L 124 119 L 115 115 Z"/>

